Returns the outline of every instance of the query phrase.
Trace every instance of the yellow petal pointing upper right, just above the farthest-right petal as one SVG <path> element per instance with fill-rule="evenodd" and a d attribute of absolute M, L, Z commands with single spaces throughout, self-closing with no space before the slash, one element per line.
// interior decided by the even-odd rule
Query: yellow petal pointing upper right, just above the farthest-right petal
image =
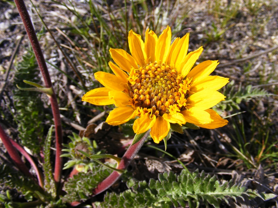
<path fill-rule="evenodd" d="M 216 66 L 219 64 L 218 60 L 216 61 L 204 61 L 197 66 L 195 66 L 187 75 L 187 77 L 192 77 L 192 81 L 200 81 L 207 76 L 209 76 L 213 70 L 215 70 Z"/>

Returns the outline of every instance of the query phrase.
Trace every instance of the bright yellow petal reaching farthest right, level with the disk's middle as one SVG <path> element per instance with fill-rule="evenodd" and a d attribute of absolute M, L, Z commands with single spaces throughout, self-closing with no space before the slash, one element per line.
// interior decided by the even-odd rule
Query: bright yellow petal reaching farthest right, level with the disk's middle
<path fill-rule="evenodd" d="M 193 81 L 190 86 L 190 92 L 199 92 L 204 89 L 219 90 L 229 82 L 229 78 L 220 76 L 208 76 L 199 82 Z"/>

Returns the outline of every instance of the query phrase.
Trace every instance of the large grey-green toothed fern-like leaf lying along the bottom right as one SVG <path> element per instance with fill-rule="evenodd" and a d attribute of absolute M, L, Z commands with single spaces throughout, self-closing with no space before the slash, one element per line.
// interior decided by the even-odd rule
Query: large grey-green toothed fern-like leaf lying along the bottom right
<path fill-rule="evenodd" d="M 275 197 L 274 194 L 259 194 L 254 190 L 241 184 L 232 185 L 232 181 L 220 185 L 216 176 L 211 177 L 198 171 L 193 174 L 195 182 L 189 174 L 182 170 L 177 177 L 173 172 L 159 174 L 158 180 L 150 179 L 146 181 L 129 181 L 129 190 L 117 195 L 115 193 L 106 194 L 104 202 L 96 203 L 98 207 L 185 207 L 186 202 L 189 207 L 199 207 L 200 201 L 205 204 L 211 204 L 214 207 L 220 207 L 222 200 L 228 203 L 227 197 L 235 200 L 237 197 L 246 195 L 249 199 L 261 197 L 266 200 Z"/>

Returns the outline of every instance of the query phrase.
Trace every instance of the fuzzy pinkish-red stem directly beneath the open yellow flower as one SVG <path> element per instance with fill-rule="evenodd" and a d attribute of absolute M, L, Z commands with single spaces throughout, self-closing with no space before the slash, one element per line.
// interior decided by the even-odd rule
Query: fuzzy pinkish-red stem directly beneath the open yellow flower
<path fill-rule="evenodd" d="M 138 153 L 138 151 L 144 144 L 146 138 L 149 136 L 149 133 L 150 130 L 145 133 L 145 135 L 139 142 L 132 146 L 129 146 L 119 163 L 118 169 L 125 170 L 127 166 L 129 166 L 130 162 L 133 160 L 135 155 Z M 102 182 L 98 184 L 98 187 L 96 187 L 93 191 L 94 196 L 108 189 L 111 185 L 113 185 L 113 183 L 115 183 L 115 181 L 118 180 L 120 176 L 121 174 L 119 172 L 113 171 L 106 179 L 104 179 Z"/>

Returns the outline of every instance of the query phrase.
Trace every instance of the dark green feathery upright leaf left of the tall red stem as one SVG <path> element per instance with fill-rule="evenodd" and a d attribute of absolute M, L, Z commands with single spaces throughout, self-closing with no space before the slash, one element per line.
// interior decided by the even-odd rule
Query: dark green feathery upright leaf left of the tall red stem
<path fill-rule="evenodd" d="M 22 56 L 22 61 L 16 65 L 14 86 L 28 87 L 23 80 L 40 82 L 38 64 L 34 52 L 29 49 L 28 53 Z M 43 102 L 38 92 L 23 91 L 15 88 L 14 107 L 15 118 L 18 121 L 20 142 L 28 147 L 32 153 L 39 154 L 43 144 L 43 125 L 45 115 L 42 111 Z"/>

